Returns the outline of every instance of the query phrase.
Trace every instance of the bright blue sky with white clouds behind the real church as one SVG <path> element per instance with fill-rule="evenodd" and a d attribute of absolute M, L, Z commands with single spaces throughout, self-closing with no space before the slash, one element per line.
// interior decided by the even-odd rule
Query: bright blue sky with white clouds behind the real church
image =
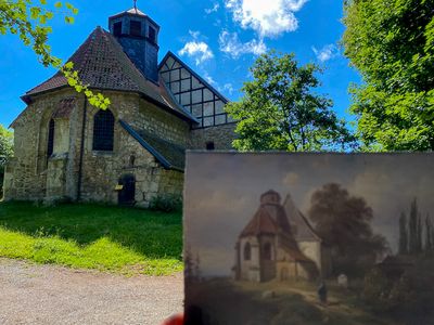
<path fill-rule="evenodd" d="M 50 2 L 50 1 L 49 1 Z M 124 0 L 71 0 L 79 9 L 74 25 L 59 16 L 50 37 L 53 54 L 67 60 L 108 16 L 132 6 Z M 336 0 L 138 0 L 138 8 L 161 25 L 159 58 L 178 54 L 230 100 L 238 100 L 248 68 L 267 49 L 294 52 L 299 63 L 324 67 L 318 92 L 334 101 L 340 117 L 353 119 L 348 86 L 360 82 L 339 41 L 343 3 Z M 20 96 L 54 70 L 44 68 L 16 36 L 0 37 L 0 123 L 25 108 Z"/>

